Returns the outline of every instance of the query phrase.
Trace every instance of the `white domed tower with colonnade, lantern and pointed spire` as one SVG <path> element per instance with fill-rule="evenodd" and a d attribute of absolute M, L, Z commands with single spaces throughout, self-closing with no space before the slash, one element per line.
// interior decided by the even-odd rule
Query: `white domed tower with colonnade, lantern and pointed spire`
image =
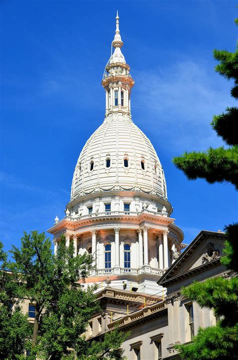
<path fill-rule="evenodd" d="M 66 217 L 49 229 L 55 251 L 61 234 L 75 256 L 92 254 L 95 270 L 86 283 L 102 282 L 148 294 L 183 247 L 170 217 L 164 171 L 148 137 L 132 120 L 135 84 L 122 53 L 116 15 L 114 49 L 103 75 L 105 118 L 86 141 L 76 164 Z M 113 275 L 113 276 L 112 276 Z M 109 280 L 108 280 L 109 279 Z"/>

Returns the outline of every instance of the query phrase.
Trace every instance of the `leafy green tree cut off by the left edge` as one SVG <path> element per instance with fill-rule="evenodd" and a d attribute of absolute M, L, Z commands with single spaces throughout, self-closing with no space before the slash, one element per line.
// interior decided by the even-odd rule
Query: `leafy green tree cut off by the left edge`
<path fill-rule="evenodd" d="M 0 242 L 0 358 L 21 359 L 30 347 L 32 327 L 20 306 L 21 299 L 15 298 L 16 284 L 7 271 L 7 253 Z"/>

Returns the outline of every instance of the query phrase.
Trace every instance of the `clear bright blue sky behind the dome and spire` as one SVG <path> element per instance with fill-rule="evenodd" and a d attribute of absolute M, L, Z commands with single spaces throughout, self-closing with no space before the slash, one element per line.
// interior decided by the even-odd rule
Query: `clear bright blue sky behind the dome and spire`
<path fill-rule="evenodd" d="M 173 217 L 190 243 L 235 221 L 229 184 L 188 181 L 171 162 L 222 145 L 209 123 L 234 104 L 212 50 L 234 51 L 232 0 L 3 1 L 1 239 L 45 231 L 64 216 L 74 167 L 104 118 L 101 78 L 118 9 L 123 53 L 136 81 L 134 122 L 163 165 Z"/>

